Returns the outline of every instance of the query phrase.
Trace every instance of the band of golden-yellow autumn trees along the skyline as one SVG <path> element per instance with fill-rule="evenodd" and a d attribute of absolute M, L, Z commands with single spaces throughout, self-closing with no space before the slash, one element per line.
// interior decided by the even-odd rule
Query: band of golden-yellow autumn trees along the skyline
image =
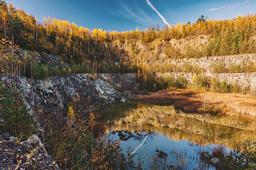
<path fill-rule="evenodd" d="M 178 23 L 171 28 L 160 28 L 159 25 L 149 26 L 146 30 L 130 30 L 124 32 L 106 31 L 102 29 L 90 30 L 78 27 L 75 23 L 61 21 L 57 18 L 38 18 L 25 13 L 21 8 L 14 8 L 12 4 L 0 1 L 0 38 L 14 39 L 14 44 L 26 50 L 48 52 L 60 55 L 68 63 L 82 63 L 85 60 L 104 60 L 117 57 L 120 53 L 114 47 L 106 47 L 102 42 L 119 40 L 171 40 L 186 38 L 193 35 L 210 35 L 214 37 L 214 50 L 207 55 L 223 55 L 229 49 L 232 53 L 243 52 L 240 43 L 250 45 L 256 33 L 256 16 L 238 16 L 231 20 L 206 20 L 201 16 L 196 23 Z M 230 42 L 230 37 L 233 37 Z M 216 42 L 215 42 L 216 41 Z M 217 45 L 216 45 L 217 44 Z M 220 45 L 219 45 L 220 44 Z M 220 49 L 216 49 L 220 48 Z M 209 51 L 209 49 L 208 49 Z M 217 52 L 218 51 L 218 52 Z M 95 58 L 96 57 L 96 58 Z"/>

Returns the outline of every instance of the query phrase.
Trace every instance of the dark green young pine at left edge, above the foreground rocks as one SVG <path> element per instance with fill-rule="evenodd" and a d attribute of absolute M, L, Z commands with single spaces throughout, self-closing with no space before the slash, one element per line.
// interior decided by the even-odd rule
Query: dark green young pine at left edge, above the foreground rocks
<path fill-rule="evenodd" d="M 30 109 L 23 101 L 21 91 L 16 89 L 15 84 L 6 90 L 0 82 L 0 130 L 9 132 L 10 135 L 30 135 L 33 128 L 33 115 L 28 113 Z"/>

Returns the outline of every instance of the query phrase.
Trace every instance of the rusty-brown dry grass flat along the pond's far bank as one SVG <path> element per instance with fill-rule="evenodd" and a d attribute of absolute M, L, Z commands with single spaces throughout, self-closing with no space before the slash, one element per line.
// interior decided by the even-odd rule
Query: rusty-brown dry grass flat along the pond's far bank
<path fill-rule="evenodd" d="M 256 97 L 242 94 L 218 94 L 213 92 L 190 91 L 178 89 L 174 91 L 158 91 L 149 96 L 139 96 L 139 100 L 149 103 L 179 105 L 183 111 L 203 112 L 207 108 L 215 108 L 228 115 L 252 115 L 256 117 Z"/>

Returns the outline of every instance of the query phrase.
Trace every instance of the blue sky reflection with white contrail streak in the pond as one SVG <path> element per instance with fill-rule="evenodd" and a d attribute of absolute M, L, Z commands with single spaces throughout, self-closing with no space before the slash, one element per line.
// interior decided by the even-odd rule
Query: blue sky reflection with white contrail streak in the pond
<path fill-rule="evenodd" d="M 120 128 L 120 127 L 119 127 Z M 135 128 L 135 127 L 134 127 Z M 111 129 L 111 128 L 110 128 Z M 153 162 L 166 162 L 183 169 L 197 169 L 201 152 L 210 152 L 216 145 L 203 146 L 188 140 L 179 140 L 162 135 L 161 132 L 148 130 L 110 130 L 110 137 L 121 140 L 123 149 L 131 147 L 136 153 L 135 162 L 143 162 L 144 169 L 154 169 Z M 157 157 L 156 157 L 157 155 Z M 208 169 L 214 169 L 208 165 Z"/>

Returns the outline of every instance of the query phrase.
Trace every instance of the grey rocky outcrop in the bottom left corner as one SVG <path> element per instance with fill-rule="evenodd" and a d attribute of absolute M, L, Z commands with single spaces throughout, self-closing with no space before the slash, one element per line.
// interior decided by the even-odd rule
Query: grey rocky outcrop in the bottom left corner
<path fill-rule="evenodd" d="M 59 169 L 37 135 L 24 142 L 14 138 L 0 141 L 0 169 Z"/>

